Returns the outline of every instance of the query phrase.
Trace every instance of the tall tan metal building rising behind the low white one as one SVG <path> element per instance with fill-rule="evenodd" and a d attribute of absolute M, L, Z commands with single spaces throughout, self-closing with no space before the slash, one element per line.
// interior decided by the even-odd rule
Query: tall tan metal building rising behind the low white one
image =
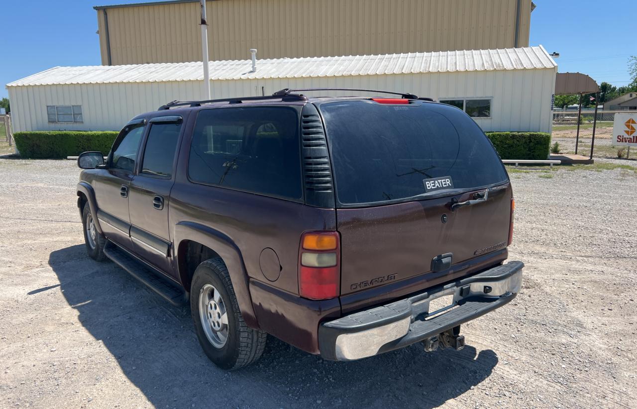
<path fill-rule="evenodd" d="M 528 47 L 531 0 L 215 0 L 211 60 Z M 201 61 L 198 0 L 96 6 L 102 64 Z"/>

